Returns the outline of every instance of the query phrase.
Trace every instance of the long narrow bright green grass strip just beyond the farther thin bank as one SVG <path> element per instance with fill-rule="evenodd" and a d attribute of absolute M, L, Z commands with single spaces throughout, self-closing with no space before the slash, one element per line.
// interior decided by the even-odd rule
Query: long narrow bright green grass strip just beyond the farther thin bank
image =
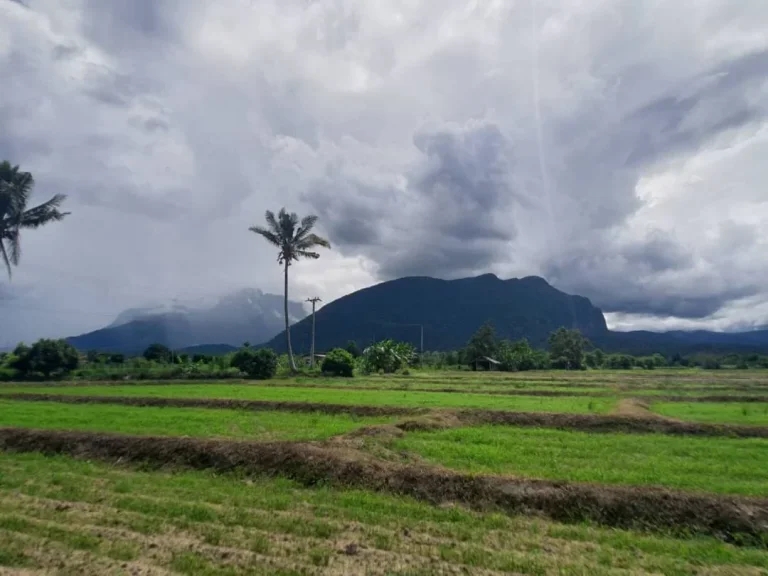
<path fill-rule="evenodd" d="M 3 387 L 0 394 L 27 392 L 78 396 L 143 396 L 162 398 L 237 398 L 283 402 L 413 406 L 429 408 L 485 408 L 527 412 L 604 413 L 615 398 L 490 396 L 400 390 L 337 390 L 323 388 L 243 386 L 232 384 L 168 384 L 157 386 Z"/>

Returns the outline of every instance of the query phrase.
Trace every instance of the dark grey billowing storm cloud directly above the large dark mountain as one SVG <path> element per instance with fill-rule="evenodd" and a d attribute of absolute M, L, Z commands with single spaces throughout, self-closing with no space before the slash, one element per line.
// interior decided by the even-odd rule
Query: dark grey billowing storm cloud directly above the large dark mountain
<path fill-rule="evenodd" d="M 413 145 L 405 191 L 332 172 L 306 200 L 331 241 L 369 254 L 382 278 L 485 269 L 515 236 L 506 218 L 517 196 L 507 138 L 493 123 L 470 121 L 423 128 Z"/>

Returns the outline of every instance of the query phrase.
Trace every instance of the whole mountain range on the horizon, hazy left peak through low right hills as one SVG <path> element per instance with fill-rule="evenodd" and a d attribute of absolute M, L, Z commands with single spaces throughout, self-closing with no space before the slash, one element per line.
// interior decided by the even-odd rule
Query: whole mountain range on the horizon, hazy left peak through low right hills
<path fill-rule="evenodd" d="M 225 353 L 245 341 L 284 352 L 283 297 L 244 289 L 219 298 L 207 308 L 171 306 L 134 308 L 115 322 L 68 340 L 80 350 L 140 354 L 161 343 L 174 349 Z M 158 312 L 159 311 L 159 312 Z M 307 353 L 311 317 L 302 304 L 290 303 L 294 350 Z M 301 319 L 303 317 L 303 319 Z M 118 322 L 118 320 L 125 322 Z M 669 332 L 608 330 L 605 316 L 592 302 L 567 294 L 539 276 L 500 279 L 493 274 L 443 280 L 428 276 L 398 278 L 338 298 L 317 311 L 318 351 L 361 347 L 384 338 L 421 344 L 426 350 L 463 347 L 477 328 L 490 321 L 501 338 L 527 338 L 543 348 L 552 330 L 578 328 L 606 352 L 666 355 L 691 352 L 764 352 L 768 330 Z"/>

